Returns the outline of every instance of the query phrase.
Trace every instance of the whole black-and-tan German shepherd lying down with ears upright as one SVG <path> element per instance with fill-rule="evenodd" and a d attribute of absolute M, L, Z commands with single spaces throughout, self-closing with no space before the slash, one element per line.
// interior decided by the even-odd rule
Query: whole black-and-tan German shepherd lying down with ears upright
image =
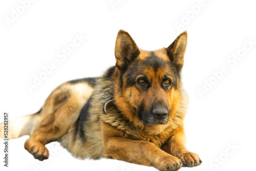
<path fill-rule="evenodd" d="M 186 44 L 183 32 L 168 48 L 145 51 L 120 30 L 114 67 L 102 77 L 61 84 L 40 111 L 9 121 L 9 138 L 30 135 L 25 149 L 40 161 L 49 157 L 45 145 L 59 141 L 81 159 L 105 157 L 159 170 L 200 165 L 184 146 Z"/>

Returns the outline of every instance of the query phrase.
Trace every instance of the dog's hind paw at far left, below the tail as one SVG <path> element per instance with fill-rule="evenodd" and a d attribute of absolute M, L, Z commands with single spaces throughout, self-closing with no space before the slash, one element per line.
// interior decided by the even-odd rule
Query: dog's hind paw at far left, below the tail
<path fill-rule="evenodd" d="M 25 149 L 34 156 L 35 159 L 43 161 L 49 158 L 49 151 L 45 145 L 38 141 L 28 139 L 24 144 Z"/>

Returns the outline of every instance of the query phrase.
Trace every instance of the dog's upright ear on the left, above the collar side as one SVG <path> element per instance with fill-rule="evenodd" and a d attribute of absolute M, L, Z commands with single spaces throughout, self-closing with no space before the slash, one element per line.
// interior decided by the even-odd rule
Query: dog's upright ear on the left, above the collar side
<path fill-rule="evenodd" d="M 119 30 L 115 46 L 116 67 L 124 69 L 138 53 L 139 48 L 130 34 L 126 31 Z"/>

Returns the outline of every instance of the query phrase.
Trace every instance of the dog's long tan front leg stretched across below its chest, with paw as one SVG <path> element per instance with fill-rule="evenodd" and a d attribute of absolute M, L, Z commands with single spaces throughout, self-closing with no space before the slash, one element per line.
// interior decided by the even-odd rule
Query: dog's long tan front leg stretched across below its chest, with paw
<path fill-rule="evenodd" d="M 106 158 L 154 166 L 159 170 L 178 170 L 182 167 L 180 159 L 165 153 L 154 143 L 123 138 L 123 132 L 111 125 L 104 124 L 103 129 L 103 150 Z"/>

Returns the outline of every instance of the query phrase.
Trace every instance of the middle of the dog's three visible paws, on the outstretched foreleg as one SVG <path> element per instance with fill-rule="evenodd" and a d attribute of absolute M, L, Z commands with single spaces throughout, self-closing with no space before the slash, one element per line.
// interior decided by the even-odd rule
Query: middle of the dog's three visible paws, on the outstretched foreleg
<path fill-rule="evenodd" d="M 158 158 L 154 166 L 161 171 L 175 171 L 182 167 L 182 161 L 172 155 Z"/>

